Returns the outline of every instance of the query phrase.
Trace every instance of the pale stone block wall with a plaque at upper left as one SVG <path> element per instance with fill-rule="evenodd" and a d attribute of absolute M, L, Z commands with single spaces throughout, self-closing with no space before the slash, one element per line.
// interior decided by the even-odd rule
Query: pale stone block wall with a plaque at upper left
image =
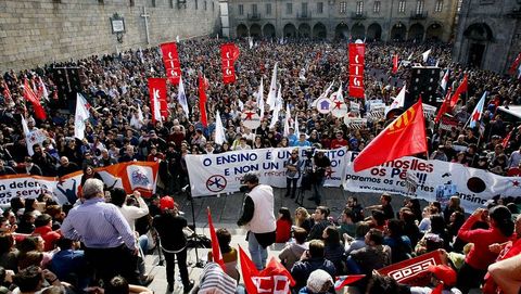
<path fill-rule="evenodd" d="M 112 34 L 114 13 L 125 20 L 123 42 Z M 213 35 L 219 26 L 218 0 L 1 0 L 0 71 Z"/>

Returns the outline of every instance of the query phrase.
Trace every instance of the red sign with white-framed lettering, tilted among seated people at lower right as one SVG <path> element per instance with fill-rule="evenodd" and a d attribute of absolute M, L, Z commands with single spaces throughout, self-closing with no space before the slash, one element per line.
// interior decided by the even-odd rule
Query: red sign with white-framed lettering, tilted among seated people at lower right
<path fill-rule="evenodd" d="M 402 284 L 427 285 L 430 282 L 429 266 L 442 265 L 441 254 L 441 251 L 425 253 L 379 269 L 378 272 L 391 277 Z"/>

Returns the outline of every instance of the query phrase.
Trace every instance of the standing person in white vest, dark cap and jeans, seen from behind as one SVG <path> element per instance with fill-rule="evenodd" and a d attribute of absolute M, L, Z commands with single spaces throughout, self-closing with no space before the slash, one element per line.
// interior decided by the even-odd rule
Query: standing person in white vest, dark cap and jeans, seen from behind
<path fill-rule="evenodd" d="M 242 181 L 244 186 L 241 187 L 241 192 L 250 192 L 244 199 L 242 216 L 237 225 L 247 228 L 247 248 L 255 267 L 262 270 L 268 257 L 267 246 L 274 244 L 276 238 L 274 189 L 259 184 L 255 174 L 244 175 Z"/>

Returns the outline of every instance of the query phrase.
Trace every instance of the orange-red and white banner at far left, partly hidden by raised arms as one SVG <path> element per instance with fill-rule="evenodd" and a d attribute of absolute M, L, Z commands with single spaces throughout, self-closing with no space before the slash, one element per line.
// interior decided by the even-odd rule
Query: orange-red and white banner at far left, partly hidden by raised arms
<path fill-rule="evenodd" d="M 106 187 L 123 188 L 127 193 L 135 190 L 145 197 L 155 193 L 158 163 L 129 162 L 96 168 Z M 75 203 L 81 190 L 81 171 L 68 174 L 58 179 L 13 175 L 0 177 L 0 204 L 9 204 L 12 197 L 35 199 L 41 193 L 50 193 L 59 204 Z"/>

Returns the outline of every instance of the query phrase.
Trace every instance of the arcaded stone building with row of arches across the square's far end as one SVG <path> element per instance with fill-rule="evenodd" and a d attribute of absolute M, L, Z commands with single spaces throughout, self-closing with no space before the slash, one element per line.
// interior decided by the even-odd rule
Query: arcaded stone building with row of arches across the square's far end
<path fill-rule="evenodd" d="M 221 0 L 223 1 L 223 0 Z M 458 0 L 228 0 L 231 37 L 448 41 Z"/>

